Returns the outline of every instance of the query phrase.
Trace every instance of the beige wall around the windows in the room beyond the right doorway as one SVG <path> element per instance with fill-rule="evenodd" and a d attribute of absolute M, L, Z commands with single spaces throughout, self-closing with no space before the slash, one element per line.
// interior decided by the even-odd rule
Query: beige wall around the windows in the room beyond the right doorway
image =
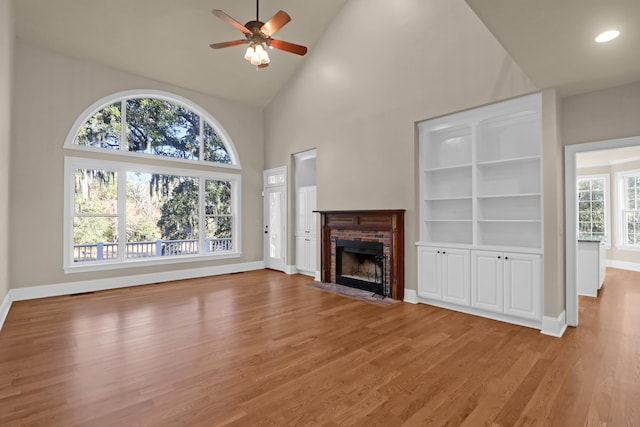
<path fill-rule="evenodd" d="M 620 248 L 619 245 L 623 242 L 620 241 L 620 236 L 618 236 L 617 230 L 619 227 L 620 220 L 622 217 L 620 216 L 620 210 L 623 206 L 618 205 L 618 197 L 617 197 L 617 185 L 616 182 L 616 174 L 620 172 L 625 172 L 629 170 L 639 170 L 640 169 L 640 161 L 633 161 L 621 164 L 614 164 L 610 166 L 600 166 L 600 167 L 589 167 L 589 168 L 580 168 L 576 170 L 576 175 L 578 177 L 585 175 L 609 175 L 609 206 L 610 206 L 610 227 L 611 227 L 611 235 L 608 236 L 609 242 L 611 243 L 611 249 L 607 251 L 607 259 L 612 261 L 622 261 L 622 262 L 630 262 L 635 264 L 640 264 L 640 251 L 629 251 L 623 248 Z"/>

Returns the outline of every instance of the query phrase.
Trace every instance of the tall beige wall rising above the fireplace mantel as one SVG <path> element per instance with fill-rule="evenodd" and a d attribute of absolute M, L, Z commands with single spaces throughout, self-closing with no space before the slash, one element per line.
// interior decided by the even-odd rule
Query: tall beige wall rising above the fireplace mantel
<path fill-rule="evenodd" d="M 265 166 L 317 148 L 320 210 L 406 209 L 416 289 L 415 123 L 535 90 L 463 0 L 351 0 L 268 106 Z"/>

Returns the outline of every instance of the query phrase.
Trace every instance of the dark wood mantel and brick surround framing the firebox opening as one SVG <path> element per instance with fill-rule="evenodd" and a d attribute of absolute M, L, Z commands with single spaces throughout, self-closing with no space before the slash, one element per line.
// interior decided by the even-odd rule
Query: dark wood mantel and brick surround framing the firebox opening
<path fill-rule="evenodd" d="M 318 211 L 321 215 L 320 273 L 325 283 L 335 283 L 336 240 L 381 242 L 386 284 L 391 298 L 404 299 L 404 209 Z"/>

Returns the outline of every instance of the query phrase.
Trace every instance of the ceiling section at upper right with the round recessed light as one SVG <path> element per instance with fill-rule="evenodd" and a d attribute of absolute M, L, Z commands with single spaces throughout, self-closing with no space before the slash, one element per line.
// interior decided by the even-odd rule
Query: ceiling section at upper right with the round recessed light
<path fill-rule="evenodd" d="M 562 96 L 640 80 L 640 0 L 465 0 L 539 89 Z M 616 28 L 620 37 L 596 43 Z"/>

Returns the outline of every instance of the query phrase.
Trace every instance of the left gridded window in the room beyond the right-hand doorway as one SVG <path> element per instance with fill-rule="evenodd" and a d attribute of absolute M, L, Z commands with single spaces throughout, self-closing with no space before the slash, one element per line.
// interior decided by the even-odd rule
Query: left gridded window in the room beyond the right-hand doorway
<path fill-rule="evenodd" d="M 608 236 L 609 176 L 578 178 L 578 233 L 581 238 Z"/>

